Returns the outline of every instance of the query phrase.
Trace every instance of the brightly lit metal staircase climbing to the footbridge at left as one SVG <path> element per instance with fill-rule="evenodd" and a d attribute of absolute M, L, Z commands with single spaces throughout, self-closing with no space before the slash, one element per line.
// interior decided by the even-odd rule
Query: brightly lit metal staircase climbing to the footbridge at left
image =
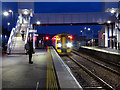
<path fill-rule="evenodd" d="M 25 54 L 25 44 L 28 42 L 29 30 L 32 29 L 31 18 L 33 16 L 33 11 L 30 9 L 19 10 L 19 16 L 15 28 L 12 28 L 8 44 L 7 53 L 8 54 Z M 22 40 L 21 29 L 24 32 L 24 39 Z"/>

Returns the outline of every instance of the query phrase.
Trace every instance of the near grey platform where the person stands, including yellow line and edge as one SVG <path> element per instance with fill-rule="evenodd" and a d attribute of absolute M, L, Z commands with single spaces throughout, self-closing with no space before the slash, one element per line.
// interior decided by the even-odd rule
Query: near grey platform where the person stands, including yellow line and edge
<path fill-rule="evenodd" d="M 28 55 L 2 57 L 2 90 L 81 89 L 69 67 L 52 48 L 37 49 L 29 64 Z"/>

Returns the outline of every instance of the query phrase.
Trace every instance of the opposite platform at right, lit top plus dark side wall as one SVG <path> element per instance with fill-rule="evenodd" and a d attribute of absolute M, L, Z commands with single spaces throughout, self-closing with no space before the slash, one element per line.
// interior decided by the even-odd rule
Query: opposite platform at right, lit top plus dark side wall
<path fill-rule="evenodd" d="M 120 65 L 120 50 L 88 46 L 81 46 L 79 50 L 90 55 L 97 56 L 104 61 Z"/>

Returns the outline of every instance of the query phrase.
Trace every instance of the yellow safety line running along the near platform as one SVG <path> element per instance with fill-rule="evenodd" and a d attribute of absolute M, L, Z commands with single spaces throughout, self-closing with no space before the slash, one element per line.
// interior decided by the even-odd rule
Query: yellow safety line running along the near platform
<path fill-rule="evenodd" d="M 54 71 L 53 61 L 50 53 L 50 49 L 48 47 L 47 52 L 47 90 L 58 90 L 57 79 Z"/>

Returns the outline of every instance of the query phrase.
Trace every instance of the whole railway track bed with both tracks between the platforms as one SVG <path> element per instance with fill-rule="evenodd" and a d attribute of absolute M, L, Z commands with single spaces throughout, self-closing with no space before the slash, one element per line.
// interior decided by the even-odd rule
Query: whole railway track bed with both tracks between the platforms
<path fill-rule="evenodd" d="M 66 58 L 64 58 L 64 62 L 67 63 L 67 65 L 71 68 L 71 71 L 73 72 L 74 76 L 78 78 L 77 80 L 79 81 L 80 84 L 83 84 L 85 82 L 84 79 L 88 79 L 88 83 L 91 82 L 98 82 L 94 83 L 92 86 L 87 86 L 82 85 L 84 89 L 86 88 L 102 88 L 103 90 L 105 89 L 111 89 L 111 90 L 119 90 L 120 89 L 120 70 L 119 66 L 116 66 L 114 64 L 110 64 L 107 62 L 104 62 L 108 64 L 110 67 L 107 65 L 99 62 L 99 60 L 94 60 L 93 57 L 90 58 L 87 55 L 81 55 L 79 52 L 72 51 L 71 55 L 68 55 L 67 58 L 69 60 L 66 61 Z M 69 62 L 74 62 L 74 64 L 69 65 Z M 76 66 L 78 66 L 76 68 Z M 83 71 L 85 71 L 89 76 L 84 77 L 83 80 L 82 75 L 83 71 L 79 71 L 82 68 Z M 117 68 L 117 69 L 116 69 Z M 91 82 L 89 82 L 90 76 L 94 79 Z M 89 78 L 88 78 L 89 77 Z M 79 79 L 80 78 L 80 79 Z M 95 85 L 96 84 L 96 85 Z"/>

